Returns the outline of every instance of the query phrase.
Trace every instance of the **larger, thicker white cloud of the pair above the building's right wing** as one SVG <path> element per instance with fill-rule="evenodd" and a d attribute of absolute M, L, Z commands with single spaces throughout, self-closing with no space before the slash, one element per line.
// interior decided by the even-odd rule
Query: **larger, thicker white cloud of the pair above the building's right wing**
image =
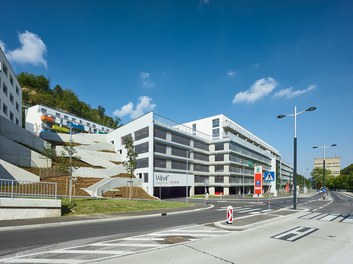
<path fill-rule="evenodd" d="M 278 82 L 271 77 L 257 80 L 250 89 L 237 93 L 233 98 L 233 104 L 240 102 L 253 103 L 271 93 L 277 85 Z"/>

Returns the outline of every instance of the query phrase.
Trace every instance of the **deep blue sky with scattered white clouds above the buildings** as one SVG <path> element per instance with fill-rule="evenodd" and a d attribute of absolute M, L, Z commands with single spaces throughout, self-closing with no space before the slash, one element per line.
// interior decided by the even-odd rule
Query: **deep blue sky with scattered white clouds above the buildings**
<path fill-rule="evenodd" d="M 5 1 L 0 45 L 16 73 L 50 78 L 127 123 L 223 113 L 307 176 L 322 150 L 353 163 L 352 1 Z M 306 170 L 309 169 L 309 170 Z"/>

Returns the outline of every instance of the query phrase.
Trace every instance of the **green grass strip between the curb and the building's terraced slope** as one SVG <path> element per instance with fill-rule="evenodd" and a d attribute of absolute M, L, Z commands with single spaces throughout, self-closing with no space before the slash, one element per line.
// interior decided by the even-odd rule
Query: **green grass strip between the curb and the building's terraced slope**
<path fill-rule="evenodd" d="M 74 199 L 71 203 L 63 199 L 61 203 L 61 211 L 63 216 L 139 212 L 189 207 L 194 205 L 191 203 L 182 202 L 122 199 Z"/>

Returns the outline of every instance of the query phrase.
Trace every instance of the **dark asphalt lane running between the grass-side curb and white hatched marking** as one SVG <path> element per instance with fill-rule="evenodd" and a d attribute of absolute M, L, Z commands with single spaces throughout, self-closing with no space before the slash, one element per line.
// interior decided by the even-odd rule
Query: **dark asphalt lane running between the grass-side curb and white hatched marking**
<path fill-rule="evenodd" d="M 337 197 L 339 198 L 340 196 L 337 195 Z M 319 202 L 319 204 L 315 204 L 315 201 L 317 202 L 319 198 L 319 196 L 311 198 L 299 197 L 298 206 L 300 206 L 301 203 L 308 203 L 314 208 L 318 207 L 321 203 Z M 203 201 L 193 201 L 190 199 L 190 202 Z M 181 214 L 167 214 L 166 216 L 156 215 L 144 218 L 133 217 L 131 219 L 125 218 L 102 222 L 93 221 L 82 224 L 76 223 L 74 225 L 65 224 L 50 227 L 0 231 L 0 257 L 13 256 L 20 252 L 35 252 L 37 250 L 43 250 L 43 248 L 55 248 L 62 245 L 68 246 L 92 241 L 101 241 L 107 238 L 130 237 L 171 227 L 213 223 L 225 219 L 225 208 L 228 205 L 232 205 L 236 208 L 235 217 L 237 217 L 237 208 L 250 208 L 247 209 L 248 211 L 243 210 L 242 215 L 244 216 L 251 213 L 251 208 L 254 210 L 266 210 L 268 208 L 267 202 L 268 200 L 261 200 L 261 202 L 258 203 L 254 199 L 231 200 L 223 198 L 223 200 L 209 200 L 208 203 L 213 205 L 210 209 Z M 271 209 L 278 210 L 284 207 L 290 207 L 291 204 L 292 199 L 290 198 L 272 199 Z M 351 202 L 347 202 L 343 208 L 347 208 L 351 205 Z"/>

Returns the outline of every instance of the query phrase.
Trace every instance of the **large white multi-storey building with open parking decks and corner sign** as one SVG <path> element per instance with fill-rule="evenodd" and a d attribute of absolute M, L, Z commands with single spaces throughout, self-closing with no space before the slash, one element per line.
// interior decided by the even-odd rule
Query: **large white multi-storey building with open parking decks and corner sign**
<path fill-rule="evenodd" d="M 148 113 L 107 135 L 126 158 L 124 138 L 134 139 L 135 174 L 151 195 L 183 197 L 193 194 L 253 193 L 254 169 L 281 174 L 280 153 L 225 115 L 177 124 Z M 264 191 L 276 182 L 264 183 Z"/>

